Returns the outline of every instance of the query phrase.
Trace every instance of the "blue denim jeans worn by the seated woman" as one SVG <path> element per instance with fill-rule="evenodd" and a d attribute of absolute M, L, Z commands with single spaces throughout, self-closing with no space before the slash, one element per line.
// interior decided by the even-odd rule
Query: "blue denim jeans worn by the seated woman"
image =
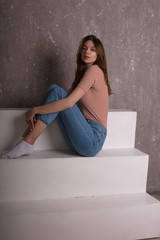
<path fill-rule="evenodd" d="M 40 105 L 67 97 L 67 92 L 53 84 L 45 92 Z M 85 119 L 75 104 L 64 111 L 38 114 L 37 118 L 47 126 L 57 117 L 60 130 L 67 144 L 82 156 L 95 156 L 102 148 L 106 138 L 106 128 L 98 122 Z"/>

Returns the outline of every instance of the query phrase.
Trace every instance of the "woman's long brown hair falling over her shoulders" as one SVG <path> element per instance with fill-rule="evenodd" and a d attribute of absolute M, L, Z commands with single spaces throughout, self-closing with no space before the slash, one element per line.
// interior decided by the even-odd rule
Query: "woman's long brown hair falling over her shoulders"
<path fill-rule="evenodd" d="M 83 77 L 83 74 L 85 73 L 87 66 L 86 64 L 82 61 L 81 59 L 81 53 L 82 53 L 82 49 L 84 44 L 88 41 L 91 40 L 96 48 L 96 52 L 97 52 L 97 59 L 96 61 L 93 63 L 93 65 L 98 65 L 99 68 L 103 71 L 104 73 L 104 78 L 108 87 L 108 93 L 109 95 L 112 94 L 112 90 L 110 87 L 110 83 L 108 81 L 108 73 L 107 73 L 107 66 L 106 66 L 106 56 L 105 56 L 105 51 L 104 51 L 104 47 L 102 42 L 95 37 L 94 35 L 88 35 L 86 37 L 84 37 L 81 41 L 80 41 L 80 45 L 77 51 L 77 69 L 76 69 L 76 75 L 75 75 L 75 80 L 72 84 L 72 90 L 74 88 L 76 88 L 76 86 L 78 85 L 78 83 L 80 82 L 81 78 Z"/>

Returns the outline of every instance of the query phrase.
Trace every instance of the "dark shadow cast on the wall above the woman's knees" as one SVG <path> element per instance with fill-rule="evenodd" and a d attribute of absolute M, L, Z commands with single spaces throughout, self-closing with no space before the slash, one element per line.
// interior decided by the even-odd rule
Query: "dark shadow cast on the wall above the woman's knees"
<path fill-rule="evenodd" d="M 46 89 L 51 84 L 57 84 L 63 87 L 63 69 L 60 65 L 59 56 L 57 56 L 55 49 L 39 46 L 35 53 L 33 64 L 36 63 L 37 68 L 34 70 L 34 80 L 30 82 L 30 88 L 32 89 L 32 105 L 37 105 L 40 102 Z M 33 77 L 32 77 L 33 79 Z"/>

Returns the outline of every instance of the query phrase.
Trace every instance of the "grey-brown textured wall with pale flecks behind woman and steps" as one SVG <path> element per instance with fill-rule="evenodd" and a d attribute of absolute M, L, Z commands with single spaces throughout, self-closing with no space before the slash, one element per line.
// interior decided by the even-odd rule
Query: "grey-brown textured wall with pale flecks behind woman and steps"
<path fill-rule="evenodd" d="M 1 0 L 0 107 L 31 107 L 74 79 L 80 39 L 97 35 L 114 91 L 110 108 L 138 112 L 136 147 L 160 191 L 160 0 Z"/>

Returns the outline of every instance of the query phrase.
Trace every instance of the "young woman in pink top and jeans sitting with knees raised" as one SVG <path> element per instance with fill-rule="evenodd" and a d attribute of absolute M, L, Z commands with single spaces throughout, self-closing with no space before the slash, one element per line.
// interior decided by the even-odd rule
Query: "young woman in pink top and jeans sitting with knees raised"
<path fill-rule="evenodd" d="M 55 118 L 66 142 L 77 154 L 95 156 L 106 138 L 110 94 L 103 45 L 95 36 L 86 36 L 78 48 L 77 70 L 70 93 L 51 85 L 40 106 L 26 112 L 29 127 L 23 139 L 2 157 L 31 154 L 34 142 Z"/>

